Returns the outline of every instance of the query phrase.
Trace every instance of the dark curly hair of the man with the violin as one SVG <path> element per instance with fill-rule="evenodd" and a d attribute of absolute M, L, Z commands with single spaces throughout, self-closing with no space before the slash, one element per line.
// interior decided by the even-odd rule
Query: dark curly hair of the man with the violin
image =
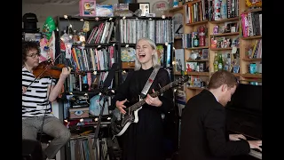
<path fill-rule="evenodd" d="M 21 47 L 22 47 L 21 48 L 22 66 L 25 65 L 25 62 L 27 60 L 28 51 L 36 49 L 38 53 L 41 52 L 40 47 L 39 47 L 39 43 L 36 42 L 36 41 L 23 41 Z"/>

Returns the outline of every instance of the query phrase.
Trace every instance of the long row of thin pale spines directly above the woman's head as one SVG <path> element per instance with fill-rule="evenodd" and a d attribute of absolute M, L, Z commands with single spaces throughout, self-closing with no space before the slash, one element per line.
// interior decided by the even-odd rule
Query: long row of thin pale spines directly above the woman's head
<path fill-rule="evenodd" d="M 136 44 L 141 37 L 148 37 L 155 44 L 172 42 L 171 20 L 121 19 L 120 24 L 122 44 Z"/>

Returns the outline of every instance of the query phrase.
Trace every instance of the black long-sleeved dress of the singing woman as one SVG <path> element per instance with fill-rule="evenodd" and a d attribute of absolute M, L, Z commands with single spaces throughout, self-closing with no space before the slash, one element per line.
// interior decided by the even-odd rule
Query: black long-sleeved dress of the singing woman
<path fill-rule="evenodd" d="M 125 106 L 138 102 L 139 95 L 146 84 L 154 68 L 140 69 L 130 72 L 125 81 L 119 86 L 114 96 L 116 100 L 129 100 Z M 160 84 L 160 85 L 159 85 Z M 148 93 L 158 91 L 166 84 L 170 84 L 170 76 L 167 70 L 160 68 Z M 138 123 L 132 123 L 127 131 L 122 134 L 123 160 L 159 160 L 165 159 L 163 151 L 162 113 L 173 108 L 171 89 L 159 96 L 161 107 L 143 105 L 138 111 Z"/>

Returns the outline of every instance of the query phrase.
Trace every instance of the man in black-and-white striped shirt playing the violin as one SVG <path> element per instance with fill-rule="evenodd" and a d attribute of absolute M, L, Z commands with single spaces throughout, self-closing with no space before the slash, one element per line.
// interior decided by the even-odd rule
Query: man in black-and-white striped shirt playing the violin
<path fill-rule="evenodd" d="M 62 68 L 57 84 L 48 76 L 36 79 L 33 69 L 39 65 L 39 55 L 36 42 L 22 43 L 22 139 L 36 140 L 37 132 L 50 135 L 54 139 L 43 150 L 43 159 L 52 159 L 71 136 L 67 127 L 51 114 L 50 105 L 59 96 L 71 69 Z"/>

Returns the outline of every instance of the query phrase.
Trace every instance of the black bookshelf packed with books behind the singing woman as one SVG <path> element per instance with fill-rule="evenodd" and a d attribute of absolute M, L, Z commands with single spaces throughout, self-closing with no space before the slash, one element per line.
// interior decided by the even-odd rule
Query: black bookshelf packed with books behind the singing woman
<path fill-rule="evenodd" d="M 70 30 L 70 25 L 72 26 L 72 30 L 80 31 L 85 22 L 89 23 L 89 31 L 85 33 L 85 43 L 76 43 L 72 44 L 71 49 L 71 56 L 69 59 L 67 59 L 67 52 L 62 50 L 62 35 L 64 34 L 64 30 Z M 101 24 L 104 24 L 105 27 L 109 23 L 109 26 L 113 24 L 113 30 L 104 29 L 102 27 L 102 36 L 99 36 L 99 39 L 96 37 L 96 32 L 93 34 L 95 35 L 95 40 L 89 41 L 91 35 L 92 35 L 92 29 L 98 27 Z M 69 66 L 73 68 L 74 70 L 80 70 L 86 73 L 87 76 L 87 83 L 89 84 L 89 87 L 91 86 L 91 90 L 83 90 L 84 83 L 83 76 L 70 76 L 67 77 L 67 81 L 65 83 L 65 99 L 60 100 L 60 105 L 63 105 L 64 111 L 64 119 L 70 123 L 70 125 L 74 122 L 75 124 L 80 123 L 80 120 L 83 119 L 83 122 L 86 122 L 88 126 L 84 125 L 79 127 L 70 126 L 70 131 L 75 132 L 75 134 L 80 134 L 85 132 L 93 132 L 94 126 L 97 125 L 96 119 L 98 119 L 98 116 L 93 116 L 90 113 L 90 110 L 83 110 L 86 112 L 89 111 L 89 116 L 82 117 L 77 116 L 76 118 L 70 118 L 71 110 L 72 114 L 74 108 L 72 108 L 72 98 L 73 97 L 79 97 L 82 99 L 83 104 L 79 105 L 85 105 L 84 99 L 88 99 L 91 101 L 91 99 L 95 98 L 99 95 L 100 89 L 99 86 L 103 83 L 102 75 L 105 77 L 107 76 L 107 72 L 109 71 L 111 65 L 113 63 L 118 64 L 118 68 L 115 69 L 115 76 L 114 76 L 114 82 L 111 86 L 112 89 L 116 89 L 117 86 L 122 84 L 124 74 L 129 70 L 134 68 L 134 60 L 130 61 L 123 61 L 123 49 L 134 49 L 135 51 L 135 44 L 140 37 L 149 37 L 150 39 L 154 40 L 155 44 L 159 46 L 161 49 L 161 55 L 162 55 L 162 67 L 170 69 L 172 68 L 172 42 L 173 42 L 173 36 L 171 34 L 171 18 L 160 18 L 160 17 L 152 17 L 152 18 L 146 18 L 146 17 L 79 17 L 79 16 L 67 16 L 67 19 L 65 17 L 58 17 L 57 18 L 57 26 L 58 26 L 58 35 L 56 39 L 56 57 L 59 56 L 59 59 L 57 60 L 58 63 L 63 63 L 66 66 Z M 68 28 L 68 29 L 67 29 Z M 101 40 L 104 33 L 111 33 L 110 37 L 107 36 L 105 41 Z M 70 34 L 72 35 L 72 34 Z M 74 35 L 72 35 L 74 37 Z M 109 40 L 107 40 L 109 39 Z M 99 54 L 101 52 L 101 54 Z M 80 56 L 78 56 L 80 55 Z M 76 58 L 75 58 L 76 57 Z M 77 61 L 75 59 L 78 59 Z M 81 59 L 81 62 L 79 61 Z M 101 61 L 104 62 L 100 63 Z M 82 64 L 79 64 L 82 63 Z M 72 74 L 71 74 L 72 75 Z M 172 75 L 172 74 L 170 74 Z M 89 77 L 90 76 L 90 77 Z M 89 78 L 91 79 L 91 83 L 89 83 Z M 96 80 L 97 79 L 97 80 Z M 81 83 L 81 84 L 80 84 Z M 81 86 L 79 86 L 81 85 Z M 75 87 L 74 87 L 75 86 Z M 98 99 L 99 100 L 99 99 Z M 80 99 L 79 99 L 80 101 Z M 77 102 L 77 100 L 75 100 Z M 110 99 L 108 99 L 108 102 L 111 102 Z M 73 100 L 74 103 L 74 100 Z M 91 102 L 90 102 L 91 103 Z M 91 106 L 91 104 L 90 104 Z M 71 110 L 70 110 L 71 109 Z M 106 109 L 106 107 L 105 107 Z M 103 120 L 102 122 L 108 122 L 111 117 L 111 111 L 108 110 L 108 115 L 104 114 L 102 116 Z M 84 114 L 85 115 L 85 114 Z M 73 115 L 74 117 L 74 115 Z M 65 122 L 66 123 L 66 122 Z M 107 124 L 106 124 L 107 125 Z M 75 128 L 75 129 L 72 129 Z M 106 127 L 107 128 L 107 127 Z M 106 129 L 107 130 L 107 129 Z M 109 131 L 106 131 L 109 132 Z M 91 134 L 89 134 L 91 135 Z M 74 136 L 72 136 L 73 138 Z M 72 143 L 80 142 L 82 143 L 83 147 L 90 148 L 87 145 L 87 137 L 81 138 L 74 138 L 70 140 L 69 146 L 67 148 L 67 153 L 74 152 L 74 145 Z M 92 151 L 90 151 L 92 152 Z M 70 158 L 70 154 L 67 154 L 67 156 Z"/>

